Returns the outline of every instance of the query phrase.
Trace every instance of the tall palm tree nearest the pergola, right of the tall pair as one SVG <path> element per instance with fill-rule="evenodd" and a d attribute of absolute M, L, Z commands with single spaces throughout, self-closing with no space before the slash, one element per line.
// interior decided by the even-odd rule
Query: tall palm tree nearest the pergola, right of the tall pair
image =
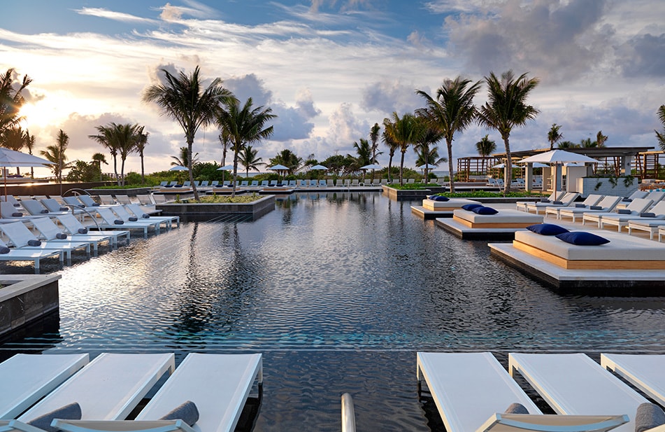
<path fill-rule="evenodd" d="M 503 144 L 506 146 L 506 179 L 504 193 L 510 190 L 510 181 L 513 176 L 513 160 L 510 155 L 510 131 L 513 127 L 524 126 L 527 120 L 533 120 L 538 115 L 538 109 L 527 105 L 529 92 L 540 83 L 538 78 L 527 79 L 527 74 L 515 79 L 513 71 L 501 74 L 501 79 L 490 72 L 485 77 L 488 87 L 488 100 L 478 110 L 478 123 L 482 126 L 496 129 L 501 134 Z"/>

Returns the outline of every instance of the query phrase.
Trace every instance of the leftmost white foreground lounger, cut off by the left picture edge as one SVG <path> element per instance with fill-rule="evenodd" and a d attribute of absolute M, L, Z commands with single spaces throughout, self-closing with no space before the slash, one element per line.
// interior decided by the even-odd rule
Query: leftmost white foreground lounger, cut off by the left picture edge
<path fill-rule="evenodd" d="M 0 363 L 0 419 L 14 419 L 89 361 L 87 354 L 16 354 Z"/>

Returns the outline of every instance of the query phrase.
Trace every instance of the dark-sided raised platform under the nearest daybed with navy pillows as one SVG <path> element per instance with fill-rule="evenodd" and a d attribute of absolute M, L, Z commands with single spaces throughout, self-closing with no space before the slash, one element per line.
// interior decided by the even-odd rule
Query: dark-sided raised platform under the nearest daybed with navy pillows
<path fill-rule="evenodd" d="M 663 295 L 665 270 L 564 269 L 520 251 L 512 243 L 489 243 L 492 256 L 506 261 L 555 291 L 597 295 Z"/>

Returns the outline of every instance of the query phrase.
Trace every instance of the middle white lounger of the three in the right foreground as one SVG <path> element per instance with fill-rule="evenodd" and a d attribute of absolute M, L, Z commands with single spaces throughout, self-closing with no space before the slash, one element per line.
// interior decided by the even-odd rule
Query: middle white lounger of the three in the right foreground
<path fill-rule="evenodd" d="M 627 414 L 617 431 L 635 430 L 635 413 L 648 402 L 585 354 L 509 354 L 510 375 L 520 375 L 557 414 Z"/>

